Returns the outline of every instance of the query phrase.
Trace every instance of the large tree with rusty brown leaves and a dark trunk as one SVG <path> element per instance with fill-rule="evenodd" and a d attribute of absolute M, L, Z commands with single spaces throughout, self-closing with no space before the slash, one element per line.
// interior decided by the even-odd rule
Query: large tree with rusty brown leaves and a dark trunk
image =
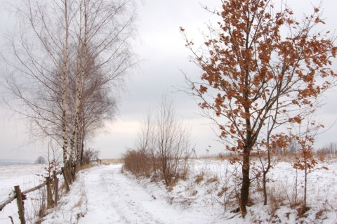
<path fill-rule="evenodd" d="M 300 124 L 334 84 L 331 58 L 337 47 L 329 32 L 315 32 L 324 25 L 319 8 L 298 22 L 290 8 L 277 11 L 270 0 L 222 1 L 221 10 L 213 12 L 220 17 L 218 27 L 209 25 L 201 48 L 194 48 L 180 27 L 191 60 L 203 71 L 201 81 L 186 77 L 189 92 L 217 124 L 226 150 L 238 152 L 242 163 L 242 216 L 251 152 L 286 148 L 289 138 L 281 126 Z"/>

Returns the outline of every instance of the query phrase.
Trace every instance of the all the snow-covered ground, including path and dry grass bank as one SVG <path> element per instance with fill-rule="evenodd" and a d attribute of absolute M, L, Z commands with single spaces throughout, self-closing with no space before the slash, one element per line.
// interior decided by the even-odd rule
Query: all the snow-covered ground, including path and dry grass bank
<path fill-rule="evenodd" d="M 121 164 L 94 166 L 79 172 L 68 194 L 48 211 L 42 223 L 337 223 L 337 163 L 325 162 L 309 174 L 308 206 L 298 217 L 303 199 L 303 172 L 279 162 L 268 175 L 269 202 L 263 206 L 260 180 L 251 183 L 251 206 L 242 219 L 236 209 L 239 165 L 227 160 L 193 159 L 189 178 L 169 188 L 164 183 L 137 179 L 121 172 Z M 13 185 L 23 190 L 39 184 L 43 166 L 0 166 L 0 201 Z M 34 195 L 29 195 L 33 199 Z M 26 215 L 32 216 L 32 209 Z M 35 205 L 37 207 L 37 205 Z M 36 210 L 36 208 L 35 208 Z M 0 223 L 19 223 L 16 202 L 0 211 Z M 27 218 L 32 223 L 33 218 Z"/>

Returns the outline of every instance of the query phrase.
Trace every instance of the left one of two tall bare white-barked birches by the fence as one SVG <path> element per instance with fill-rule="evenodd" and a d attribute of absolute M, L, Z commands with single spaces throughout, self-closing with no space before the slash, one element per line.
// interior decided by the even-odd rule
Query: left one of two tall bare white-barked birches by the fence
<path fill-rule="evenodd" d="M 59 141 L 67 162 L 65 94 L 72 5 L 68 0 L 55 7 L 41 1 L 25 1 L 15 9 L 20 23 L 18 30 L 8 35 L 4 60 L 8 65 L 7 88 L 17 101 L 10 98 L 8 105 L 30 119 L 33 136 L 51 136 Z"/>

